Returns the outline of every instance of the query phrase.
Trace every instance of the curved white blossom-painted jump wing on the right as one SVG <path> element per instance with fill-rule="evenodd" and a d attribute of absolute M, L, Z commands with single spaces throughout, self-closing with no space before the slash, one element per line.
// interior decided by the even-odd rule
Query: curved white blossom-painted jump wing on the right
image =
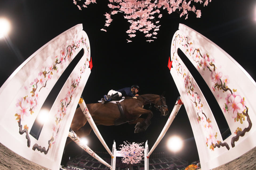
<path fill-rule="evenodd" d="M 203 96 L 199 95 L 201 101 L 197 99 L 200 85 L 197 87 L 193 82 L 192 75 L 177 54 L 178 48 L 202 75 L 221 107 L 232 133 L 225 141 L 221 139 L 213 115 L 205 113 L 208 104 L 202 101 Z M 170 72 L 189 116 L 202 169 L 211 169 L 227 163 L 255 147 L 256 83 L 250 75 L 219 46 L 183 24 L 179 25 L 179 30 L 173 36 L 171 54 L 173 69 Z M 194 86 L 188 87 L 191 84 Z M 193 107 L 193 105 L 198 106 L 199 101 L 203 103 L 203 107 Z M 209 121 L 202 120 L 206 117 Z M 202 125 L 204 127 L 210 125 L 206 128 L 206 133 L 203 132 Z M 213 145 L 210 145 L 207 137 L 207 133 L 211 134 L 211 130 L 213 135 L 217 132 L 217 138 L 213 139 L 227 143 L 229 150 L 224 146 L 213 150 Z"/>

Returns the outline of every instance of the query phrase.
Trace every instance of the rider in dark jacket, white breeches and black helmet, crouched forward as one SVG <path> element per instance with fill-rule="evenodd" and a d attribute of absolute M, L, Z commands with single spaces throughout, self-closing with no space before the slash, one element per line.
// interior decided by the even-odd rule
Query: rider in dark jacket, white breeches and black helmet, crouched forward
<path fill-rule="evenodd" d="M 110 99 L 118 99 L 122 96 L 130 96 L 134 99 L 137 99 L 137 96 L 139 96 L 137 93 L 139 91 L 139 86 L 134 84 L 131 87 L 125 87 L 120 90 L 110 90 L 107 95 L 104 95 L 101 104 L 104 104 L 106 101 L 110 101 Z"/>

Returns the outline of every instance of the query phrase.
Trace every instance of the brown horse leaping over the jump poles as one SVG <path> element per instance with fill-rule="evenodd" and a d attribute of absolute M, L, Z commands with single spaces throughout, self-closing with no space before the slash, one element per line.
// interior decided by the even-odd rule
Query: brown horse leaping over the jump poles
<path fill-rule="evenodd" d="M 143 109 L 146 104 L 154 104 L 155 108 L 161 112 L 163 116 L 166 116 L 169 111 L 166 105 L 166 100 L 163 95 L 155 94 L 144 94 L 137 96 L 137 99 L 129 97 L 123 100 L 121 103 L 123 108 L 124 117 L 122 118 L 120 110 L 117 104 L 114 103 L 93 103 L 86 104 L 95 125 L 119 125 L 128 122 L 129 124 L 136 124 L 134 133 L 143 132 L 151 124 L 150 119 L 153 117 L 153 112 L 151 110 Z M 146 119 L 140 118 L 142 114 L 147 114 Z M 116 120 L 119 119 L 118 124 Z M 120 122 L 121 120 L 121 122 Z M 75 131 L 75 133 L 80 137 L 85 137 L 90 134 L 91 126 L 82 109 L 79 107 L 76 109 L 73 120 L 71 122 L 70 128 Z M 72 140 L 67 138 L 66 145 Z"/>

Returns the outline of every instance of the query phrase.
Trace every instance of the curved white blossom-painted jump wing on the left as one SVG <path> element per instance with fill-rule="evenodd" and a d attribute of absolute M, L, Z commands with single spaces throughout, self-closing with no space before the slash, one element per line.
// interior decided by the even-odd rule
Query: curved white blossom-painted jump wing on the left
<path fill-rule="evenodd" d="M 4 99 L 0 103 L 0 142 L 49 169 L 59 169 L 68 129 L 90 75 L 90 44 L 82 29 L 82 24 L 78 24 L 45 44 L 0 88 L 0 97 Z M 81 49 L 84 55 L 62 87 L 36 140 L 29 134 L 35 118 L 54 84 Z"/>

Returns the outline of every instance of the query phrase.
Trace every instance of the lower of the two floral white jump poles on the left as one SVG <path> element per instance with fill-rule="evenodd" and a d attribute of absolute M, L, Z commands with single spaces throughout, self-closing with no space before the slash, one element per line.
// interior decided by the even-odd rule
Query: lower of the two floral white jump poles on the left
<path fill-rule="evenodd" d="M 99 162 L 101 162 L 102 164 L 106 165 L 107 167 L 109 167 L 111 170 L 113 170 L 113 167 L 111 165 L 109 165 L 108 163 L 106 163 L 101 157 L 99 157 L 95 152 L 93 152 L 93 150 L 91 150 L 91 148 L 89 148 L 89 146 L 85 145 L 81 139 L 77 136 L 77 134 L 75 134 L 75 132 L 70 129 L 69 130 L 69 135 L 68 135 L 78 146 L 80 146 L 83 150 L 85 150 L 89 155 L 91 155 L 93 158 L 97 159 Z"/>

